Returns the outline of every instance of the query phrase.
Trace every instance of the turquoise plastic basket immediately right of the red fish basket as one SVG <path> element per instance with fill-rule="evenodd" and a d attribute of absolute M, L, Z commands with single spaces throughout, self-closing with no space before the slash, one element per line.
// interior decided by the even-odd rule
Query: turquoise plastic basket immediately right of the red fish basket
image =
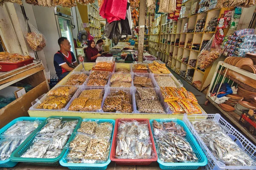
<path fill-rule="evenodd" d="M 161 122 L 169 122 L 170 119 L 151 119 L 150 120 L 150 126 L 151 130 L 154 136 L 154 129 L 152 126 L 153 120 L 161 121 Z M 198 157 L 198 162 L 177 162 L 177 163 L 165 163 L 159 159 L 157 162 L 159 163 L 159 167 L 163 170 L 196 170 L 198 167 L 203 167 L 207 165 L 207 157 L 205 156 L 203 150 L 199 146 L 199 144 L 196 142 L 194 136 L 190 132 L 189 128 L 186 126 L 186 124 L 181 120 L 172 120 L 173 122 L 177 122 L 183 129 L 186 131 L 186 140 L 191 145 L 193 151 L 195 152 L 195 155 Z M 155 141 L 156 147 L 157 142 Z M 157 148 L 158 150 L 158 148 Z M 158 154 L 158 152 L 157 152 Z"/>

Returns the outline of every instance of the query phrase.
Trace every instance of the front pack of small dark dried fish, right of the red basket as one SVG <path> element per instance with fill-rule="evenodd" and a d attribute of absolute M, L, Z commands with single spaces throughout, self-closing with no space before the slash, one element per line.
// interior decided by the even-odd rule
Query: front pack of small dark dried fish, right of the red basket
<path fill-rule="evenodd" d="M 175 133 L 155 129 L 158 157 L 163 162 L 197 162 L 198 158 L 189 142 Z"/>

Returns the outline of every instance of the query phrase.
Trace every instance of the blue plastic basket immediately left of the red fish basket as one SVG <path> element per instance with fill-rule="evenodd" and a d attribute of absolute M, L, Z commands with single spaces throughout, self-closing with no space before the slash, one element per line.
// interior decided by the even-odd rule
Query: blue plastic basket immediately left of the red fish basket
<path fill-rule="evenodd" d="M 111 137 L 111 145 L 110 145 L 110 149 L 112 146 L 112 141 L 113 141 L 113 133 L 114 133 L 114 128 L 115 128 L 115 120 L 113 119 L 83 119 L 83 121 L 96 121 L 98 120 L 98 122 L 110 122 L 113 125 L 113 132 L 112 132 L 112 137 Z M 75 138 L 75 136 L 73 137 L 73 139 Z M 72 140 L 73 140 L 72 139 Z M 108 161 L 106 161 L 103 164 L 85 164 L 85 163 L 67 163 L 67 161 L 65 160 L 69 150 L 66 150 L 66 152 L 64 153 L 64 156 L 61 158 L 60 160 L 60 164 L 63 167 L 68 167 L 68 169 L 70 170 L 105 170 L 108 167 L 108 164 L 110 164 L 110 151 L 109 150 L 109 156 L 108 156 Z"/>

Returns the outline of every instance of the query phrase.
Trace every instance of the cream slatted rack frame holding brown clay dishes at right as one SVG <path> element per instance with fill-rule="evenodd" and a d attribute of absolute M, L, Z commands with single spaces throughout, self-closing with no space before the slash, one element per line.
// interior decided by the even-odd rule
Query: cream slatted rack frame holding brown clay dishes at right
<path fill-rule="evenodd" d="M 233 65 L 229 65 L 225 62 L 218 62 L 218 65 L 215 69 L 215 73 L 212 77 L 212 82 L 211 82 L 211 84 L 209 86 L 209 89 L 207 91 L 206 105 L 209 102 L 211 102 L 213 105 L 215 105 L 215 107 L 218 108 L 225 116 L 227 116 L 227 118 L 230 119 L 231 122 L 233 122 L 242 132 L 244 132 L 253 142 L 256 143 L 256 136 L 253 136 L 246 128 L 244 128 L 239 123 L 240 116 L 238 114 L 236 114 L 235 112 L 224 111 L 223 109 L 221 109 L 221 107 L 217 103 L 214 102 L 214 100 L 212 100 L 209 97 L 212 94 L 213 89 L 215 88 L 215 86 L 218 83 L 220 83 L 220 85 L 219 85 L 217 94 L 220 91 L 221 85 L 225 82 L 231 84 L 231 86 L 242 85 L 243 87 L 246 87 L 246 88 L 250 89 L 250 91 L 256 92 L 256 88 L 252 87 L 252 84 L 248 85 L 249 82 L 244 81 L 243 79 L 241 79 L 241 77 L 232 77 L 232 76 L 230 76 L 228 74 L 228 71 L 234 71 L 236 73 L 241 74 L 242 76 L 249 77 L 250 79 L 252 79 L 252 82 L 255 81 L 255 86 L 256 86 L 256 74 L 252 74 L 248 71 L 244 71 L 244 70 L 242 70 L 238 67 L 235 67 Z"/>

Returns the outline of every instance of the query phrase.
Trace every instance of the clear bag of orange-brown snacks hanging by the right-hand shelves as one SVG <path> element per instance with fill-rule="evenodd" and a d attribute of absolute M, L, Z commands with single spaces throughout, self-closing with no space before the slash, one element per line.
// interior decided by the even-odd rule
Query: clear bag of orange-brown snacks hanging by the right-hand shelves
<path fill-rule="evenodd" d="M 198 55 L 198 63 L 201 69 L 207 68 L 222 54 L 221 47 L 215 41 L 215 35 L 207 42 L 204 49 Z"/>

